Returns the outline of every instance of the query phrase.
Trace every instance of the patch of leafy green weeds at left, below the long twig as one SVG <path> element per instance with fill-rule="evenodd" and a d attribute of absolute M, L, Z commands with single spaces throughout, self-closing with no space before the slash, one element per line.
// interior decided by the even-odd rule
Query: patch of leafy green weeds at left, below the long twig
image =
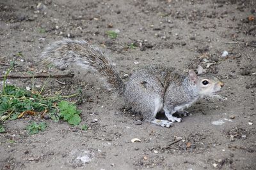
<path fill-rule="evenodd" d="M 69 96 L 42 96 L 42 92 L 49 78 L 45 81 L 40 92 L 35 89 L 34 74 L 32 78 L 32 90 L 19 89 L 15 85 L 6 85 L 8 73 L 12 71 L 14 62 L 10 69 L 4 74 L 3 92 L 0 91 L 0 120 L 15 120 L 24 115 L 49 115 L 52 120 L 58 122 L 60 118 L 67 120 L 71 125 L 78 125 L 81 122 L 79 114 L 73 103 L 63 101 L 64 98 L 75 97 L 81 94 L 81 90 Z"/>

